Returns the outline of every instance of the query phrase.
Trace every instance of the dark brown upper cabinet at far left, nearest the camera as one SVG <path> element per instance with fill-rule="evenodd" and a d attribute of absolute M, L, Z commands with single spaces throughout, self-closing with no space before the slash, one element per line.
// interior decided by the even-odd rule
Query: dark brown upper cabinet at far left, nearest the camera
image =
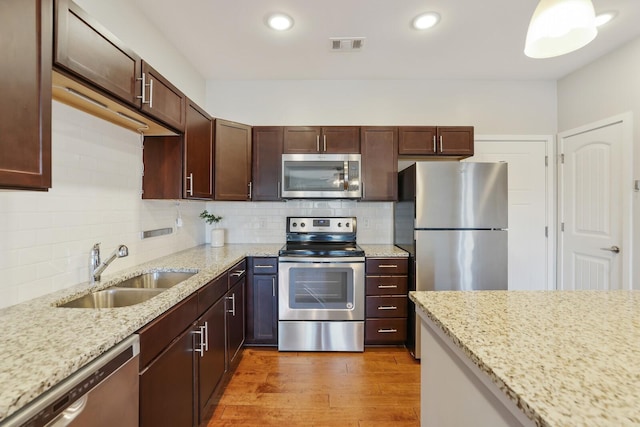
<path fill-rule="evenodd" d="M 0 188 L 51 187 L 52 0 L 0 2 Z"/>

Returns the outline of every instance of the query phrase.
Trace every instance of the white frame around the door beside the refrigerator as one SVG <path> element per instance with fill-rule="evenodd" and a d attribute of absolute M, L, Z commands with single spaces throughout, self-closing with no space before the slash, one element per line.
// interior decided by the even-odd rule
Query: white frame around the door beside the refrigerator
<path fill-rule="evenodd" d="M 545 223 L 547 227 L 547 259 L 546 259 L 546 289 L 557 289 L 557 196 L 556 196 L 556 180 L 557 171 L 554 167 L 553 159 L 557 156 L 556 139 L 554 135 L 476 135 L 475 142 L 543 142 L 545 145 L 546 156 L 546 183 L 547 192 L 545 207 Z"/>

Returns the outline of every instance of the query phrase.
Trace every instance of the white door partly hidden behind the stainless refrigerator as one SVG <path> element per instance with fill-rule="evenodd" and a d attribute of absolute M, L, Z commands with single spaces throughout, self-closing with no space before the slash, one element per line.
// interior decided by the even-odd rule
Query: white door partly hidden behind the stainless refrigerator
<path fill-rule="evenodd" d="M 552 137 L 485 137 L 465 161 L 507 162 L 509 173 L 509 290 L 554 288 Z"/>

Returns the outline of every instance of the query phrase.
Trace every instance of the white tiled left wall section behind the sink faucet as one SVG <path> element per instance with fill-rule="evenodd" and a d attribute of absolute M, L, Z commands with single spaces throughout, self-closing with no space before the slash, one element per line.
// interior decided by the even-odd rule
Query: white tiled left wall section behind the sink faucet
<path fill-rule="evenodd" d="M 53 103 L 53 188 L 0 191 L 0 307 L 89 280 L 96 242 L 129 256 L 104 276 L 204 243 L 203 202 L 180 202 L 184 226 L 142 240 L 143 230 L 173 227 L 175 201 L 143 201 L 140 136 Z"/>

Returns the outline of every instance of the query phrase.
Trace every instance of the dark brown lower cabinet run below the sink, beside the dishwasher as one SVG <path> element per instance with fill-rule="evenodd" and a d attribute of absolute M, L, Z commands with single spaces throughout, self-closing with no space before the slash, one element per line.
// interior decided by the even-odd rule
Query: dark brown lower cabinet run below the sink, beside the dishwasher
<path fill-rule="evenodd" d="M 241 261 L 138 331 L 140 426 L 192 427 L 240 360 L 246 266 Z"/>

